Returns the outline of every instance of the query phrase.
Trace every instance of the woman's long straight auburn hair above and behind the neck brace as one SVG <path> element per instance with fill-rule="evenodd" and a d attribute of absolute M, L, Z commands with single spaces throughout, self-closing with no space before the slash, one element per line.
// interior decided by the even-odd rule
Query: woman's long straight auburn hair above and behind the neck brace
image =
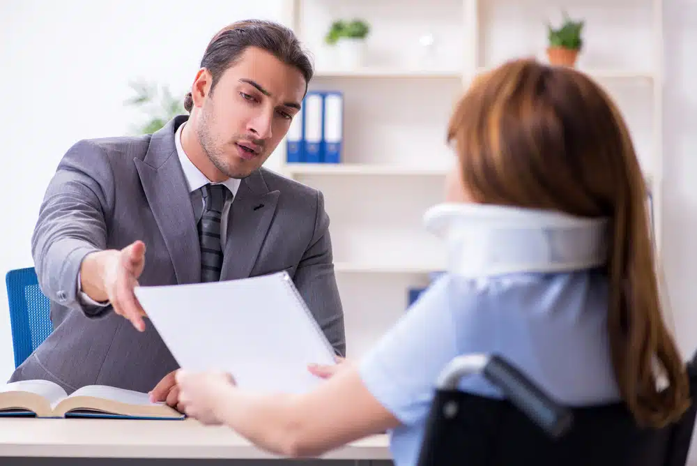
<path fill-rule="evenodd" d="M 677 420 L 689 407 L 689 382 L 662 317 L 648 189 L 613 100 L 572 68 L 509 61 L 473 80 L 454 108 L 447 140 L 475 202 L 611 220 L 615 378 L 638 423 Z"/>

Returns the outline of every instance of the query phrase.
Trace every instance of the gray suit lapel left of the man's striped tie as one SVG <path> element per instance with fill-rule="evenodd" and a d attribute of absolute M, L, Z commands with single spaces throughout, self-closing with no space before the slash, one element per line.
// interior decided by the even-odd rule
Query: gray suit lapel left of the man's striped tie
<path fill-rule="evenodd" d="M 135 159 L 148 204 L 180 284 L 201 280 L 201 250 L 194 209 L 174 146 L 174 132 L 186 118 L 176 117 L 153 134 L 144 160 Z"/>

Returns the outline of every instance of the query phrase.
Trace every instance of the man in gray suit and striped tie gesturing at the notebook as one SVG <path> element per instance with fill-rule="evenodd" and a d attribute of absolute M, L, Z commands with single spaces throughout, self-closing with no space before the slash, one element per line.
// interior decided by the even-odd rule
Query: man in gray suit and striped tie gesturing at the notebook
<path fill-rule="evenodd" d="M 54 331 L 10 381 L 48 379 L 68 393 L 89 384 L 157 386 L 154 398 L 176 406 L 178 366 L 146 325 L 134 287 L 283 270 L 344 354 L 323 196 L 261 167 L 311 78 L 292 31 L 238 22 L 206 48 L 185 99 L 190 116 L 153 135 L 68 150 L 32 238 Z M 220 303 L 221 315 L 231 306 L 234 296 Z"/>

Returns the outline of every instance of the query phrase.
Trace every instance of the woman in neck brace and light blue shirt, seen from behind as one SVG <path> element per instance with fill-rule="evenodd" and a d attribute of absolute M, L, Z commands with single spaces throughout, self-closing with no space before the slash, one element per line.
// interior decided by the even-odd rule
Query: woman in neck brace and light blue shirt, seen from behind
<path fill-rule="evenodd" d="M 645 183 L 606 93 L 576 70 L 510 61 L 473 82 L 447 140 L 448 203 L 427 215 L 447 273 L 310 393 L 259 395 L 234 375 L 181 370 L 187 414 L 284 456 L 390 430 L 395 463 L 412 465 L 438 374 L 454 356 L 495 352 L 565 405 L 623 400 L 643 426 L 680 417 L 689 387 L 661 318 Z M 502 396 L 479 376 L 459 388 Z"/>

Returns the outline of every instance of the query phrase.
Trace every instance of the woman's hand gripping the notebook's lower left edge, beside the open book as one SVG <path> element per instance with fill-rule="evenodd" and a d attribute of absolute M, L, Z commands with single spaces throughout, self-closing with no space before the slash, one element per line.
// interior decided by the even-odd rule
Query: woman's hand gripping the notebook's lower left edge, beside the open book
<path fill-rule="evenodd" d="M 178 408 L 201 423 L 219 425 L 219 403 L 235 385 L 235 380 L 228 373 L 204 372 L 187 373 L 184 370 L 176 372 L 176 384 L 179 387 Z"/>

